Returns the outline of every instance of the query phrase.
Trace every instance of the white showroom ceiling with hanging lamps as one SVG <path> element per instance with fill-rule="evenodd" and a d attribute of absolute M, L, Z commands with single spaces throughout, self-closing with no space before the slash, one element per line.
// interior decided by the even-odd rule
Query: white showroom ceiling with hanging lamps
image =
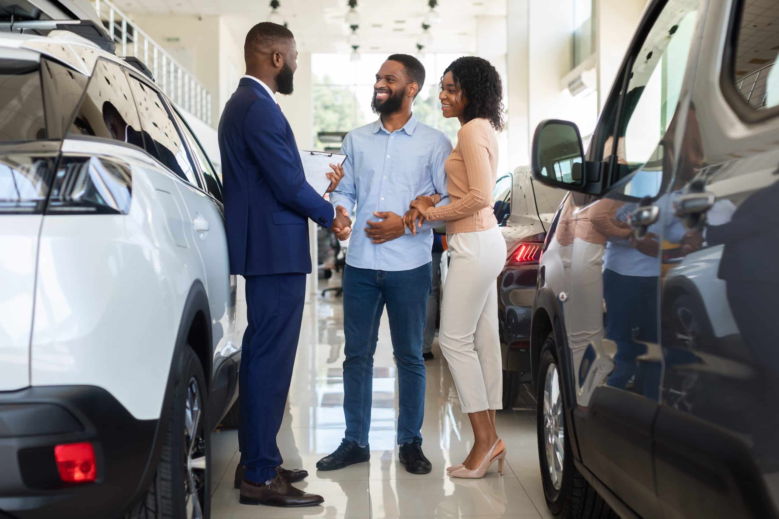
<path fill-rule="evenodd" d="M 270 12 L 270 0 L 112 0 L 119 9 L 139 14 L 224 15 L 231 32 L 243 35 Z M 295 35 L 298 51 L 348 52 L 351 30 L 347 0 L 279 0 L 279 12 Z M 475 52 L 476 19 L 506 16 L 508 0 L 439 0 L 442 23 L 432 27 L 430 52 Z M 421 40 L 427 0 L 358 0 L 360 51 L 407 52 Z"/>

